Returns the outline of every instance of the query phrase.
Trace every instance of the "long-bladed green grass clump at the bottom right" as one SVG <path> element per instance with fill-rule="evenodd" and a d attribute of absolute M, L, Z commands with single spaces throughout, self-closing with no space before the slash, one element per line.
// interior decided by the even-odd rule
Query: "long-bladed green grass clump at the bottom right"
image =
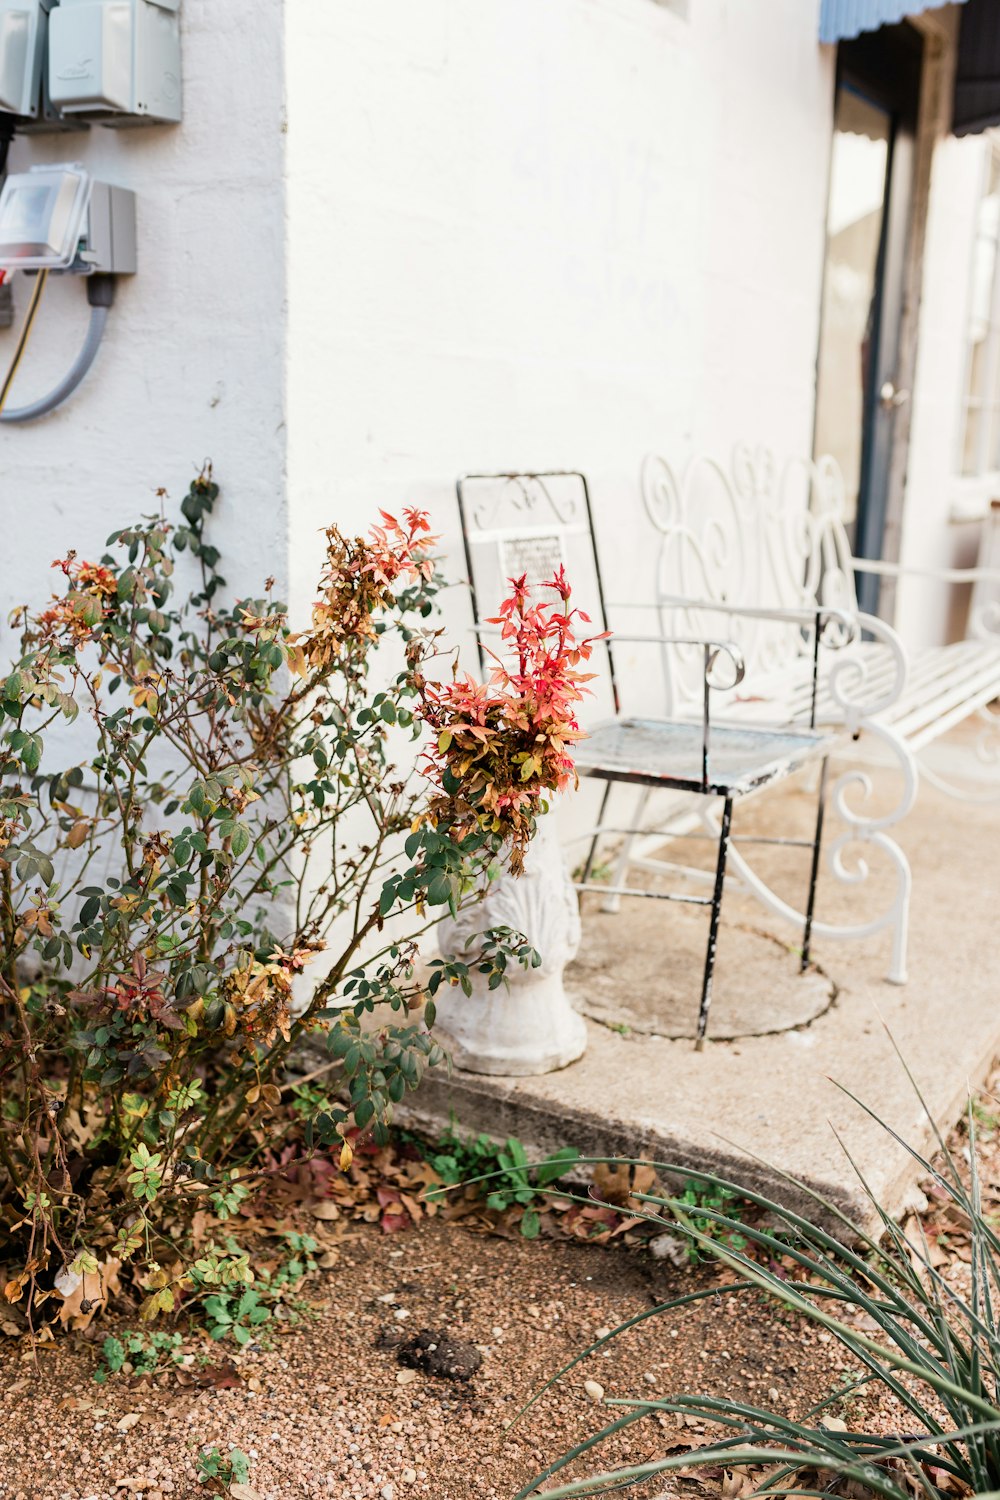
<path fill-rule="evenodd" d="M 867 1113 L 877 1119 L 871 1110 Z M 906 1146 L 895 1131 L 889 1134 Z M 556 1500 L 616 1494 L 657 1476 L 666 1479 L 676 1470 L 735 1467 L 747 1473 L 744 1488 L 757 1494 L 876 1494 L 886 1500 L 999 1494 L 1000 1238 L 996 1215 L 982 1206 L 975 1112 L 970 1108 L 969 1113 L 967 1172 L 940 1136 L 937 1144 L 940 1158 L 936 1164 L 910 1146 L 906 1149 L 931 1178 L 940 1198 L 967 1226 L 967 1284 L 946 1278 L 919 1234 L 906 1236 L 874 1197 L 871 1204 L 882 1226 L 880 1234 L 867 1233 L 834 1203 L 798 1182 L 799 1192 L 816 1204 L 817 1216 L 838 1227 L 832 1233 L 747 1186 L 657 1164 L 664 1176 L 684 1172 L 702 1185 L 702 1227 L 685 1200 L 669 1194 L 637 1192 L 643 1204 L 642 1216 L 663 1224 L 672 1234 L 685 1236 L 703 1258 L 717 1260 L 735 1272 L 736 1280 L 726 1286 L 727 1298 L 759 1299 L 765 1293 L 777 1310 L 790 1310 L 832 1334 L 856 1377 L 798 1419 L 732 1396 L 678 1392 L 664 1400 L 642 1394 L 607 1400 L 606 1406 L 621 1414 L 550 1462 L 520 1491 L 517 1500 L 528 1500 L 529 1496 Z M 756 1204 L 759 1222 L 748 1224 L 745 1218 L 708 1208 L 711 1196 L 720 1192 L 738 1194 Z M 745 1250 L 735 1248 L 741 1242 Z M 790 1270 L 786 1269 L 789 1266 Z M 640 1312 L 592 1344 L 553 1380 L 636 1323 L 666 1317 L 676 1308 L 717 1294 L 718 1287 L 711 1286 Z M 730 1322 L 736 1318 L 738 1314 L 730 1316 Z M 865 1386 L 873 1386 L 882 1398 L 895 1404 L 895 1431 L 844 1430 L 840 1419 L 825 1424 L 829 1407 Z M 529 1406 L 535 1400 L 538 1396 Z M 849 1410 L 856 1410 L 856 1404 Z M 723 1431 L 694 1450 L 684 1444 L 682 1452 L 664 1452 L 661 1458 L 616 1470 L 601 1472 L 598 1466 L 588 1478 L 553 1484 L 568 1464 L 586 1460 L 615 1434 L 664 1414 Z M 648 1440 L 649 1431 L 643 1436 Z"/>

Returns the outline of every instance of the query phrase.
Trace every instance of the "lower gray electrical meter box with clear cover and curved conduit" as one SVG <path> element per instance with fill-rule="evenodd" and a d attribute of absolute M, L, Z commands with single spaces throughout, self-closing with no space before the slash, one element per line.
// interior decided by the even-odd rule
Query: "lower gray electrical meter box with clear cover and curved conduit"
<path fill-rule="evenodd" d="M 10 172 L 0 192 L 0 267 L 135 272 L 135 194 L 93 182 L 79 162 Z"/>

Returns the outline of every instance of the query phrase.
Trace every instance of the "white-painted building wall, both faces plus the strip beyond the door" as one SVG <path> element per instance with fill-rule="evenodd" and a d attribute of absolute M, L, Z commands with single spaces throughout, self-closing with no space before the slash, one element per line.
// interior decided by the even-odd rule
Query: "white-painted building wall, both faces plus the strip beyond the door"
<path fill-rule="evenodd" d="M 814 9 L 186 0 L 180 128 L 15 144 L 15 168 L 79 158 L 135 188 L 141 267 L 82 390 L 0 428 L 0 618 L 202 458 L 231 582 L 289 574 L 300 615 L 318 530 L 379 504 L 427 504 L 459 572 L 453 480 L 489 466 L 585 468 L 610 592 L 648 592 L 646 450 L 810 446 L 834 68 Z M 948 518 L 981 152 L 934 162 L 912 562 L 975 550 Z M 13 404 L 85 320 L 82 286 L 49 282 Z M 948 608 L 907 588 L 898 622 L 940 639 Z"/>

